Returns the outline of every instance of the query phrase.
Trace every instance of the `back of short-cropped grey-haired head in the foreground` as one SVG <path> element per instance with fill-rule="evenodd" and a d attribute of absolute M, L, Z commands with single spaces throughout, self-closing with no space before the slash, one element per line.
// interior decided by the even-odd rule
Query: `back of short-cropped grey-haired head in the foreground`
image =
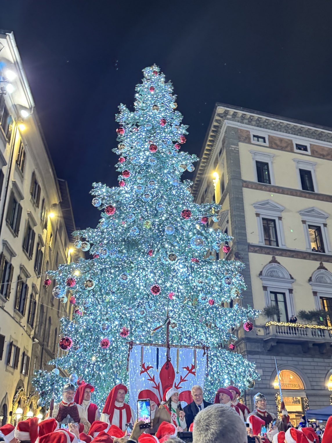
<path fill-rule="evenodd" d="M 193 443 L 247 443 L 247 441 L 246 425 L 233 408 L 212 404 L 195 417 Z"/>

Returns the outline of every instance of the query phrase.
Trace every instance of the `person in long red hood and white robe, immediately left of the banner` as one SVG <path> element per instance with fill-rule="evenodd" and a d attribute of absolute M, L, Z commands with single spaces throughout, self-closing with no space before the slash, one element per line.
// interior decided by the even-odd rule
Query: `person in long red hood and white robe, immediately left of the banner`
<path fill-rule="evenodd" d="M 100 420 L 109 424 L 115 424 L 122 431 L 126 430 L 126 423 L 135 422 L 135 414 L 129 404 L 124 403 L 127 388 L 124 385 L 116 385 L 108 394 Z"/>

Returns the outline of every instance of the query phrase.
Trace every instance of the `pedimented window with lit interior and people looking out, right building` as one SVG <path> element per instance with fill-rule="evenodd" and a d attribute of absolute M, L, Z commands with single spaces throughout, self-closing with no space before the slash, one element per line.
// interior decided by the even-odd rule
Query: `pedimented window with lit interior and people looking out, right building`
<path fill-rule="evenodd" d="M 299 211 L 299 214 L 305 234 L 305 249 L 314 253 L 331 254 L 326 223 L 328 214 L 316 207 Z"/>

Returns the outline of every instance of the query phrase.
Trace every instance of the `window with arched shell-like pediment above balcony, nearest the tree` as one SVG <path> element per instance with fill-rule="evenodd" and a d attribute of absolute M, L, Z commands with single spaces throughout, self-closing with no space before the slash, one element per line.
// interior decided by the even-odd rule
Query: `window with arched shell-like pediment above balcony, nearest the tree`
<path fill-rule="evenodd" d="M 275 258 L 264 266 L 259 273 L 262 280 L 266 306 L 279 308 L 278 322 L 288 322 L 295 315 L 293 303 L 293 282 L 290 273 Z"/>

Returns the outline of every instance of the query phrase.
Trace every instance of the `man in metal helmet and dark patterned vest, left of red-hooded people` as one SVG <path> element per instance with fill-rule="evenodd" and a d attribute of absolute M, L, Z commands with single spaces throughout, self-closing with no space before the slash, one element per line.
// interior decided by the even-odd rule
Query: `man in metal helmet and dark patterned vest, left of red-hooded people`
<path fill-rule="evenodd" d="M 84 408 L 74 400 L 75 385 L 67 383 L 62 389 L 62 401 L 55 403 L 54 408 L 47 412 L 47 417 L 55 418 L 60 424 L 77 423 L 79 432 L 88 432 L 90 423 Z"/>

